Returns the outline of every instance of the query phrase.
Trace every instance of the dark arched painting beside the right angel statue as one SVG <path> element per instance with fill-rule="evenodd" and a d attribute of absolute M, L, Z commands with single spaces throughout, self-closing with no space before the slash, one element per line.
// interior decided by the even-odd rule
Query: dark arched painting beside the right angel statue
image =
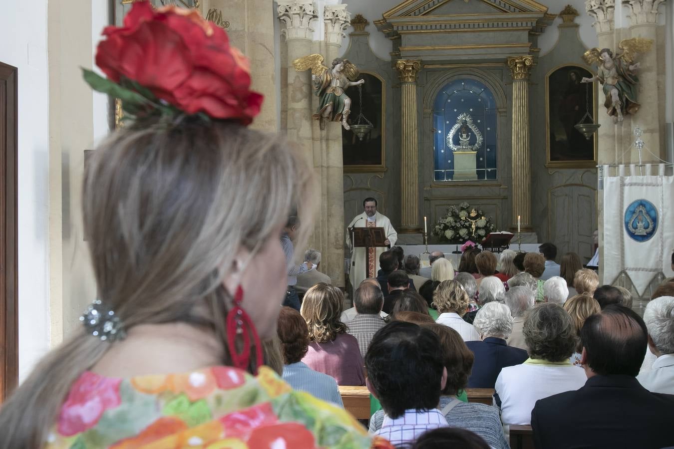
<path fill-rule="evenodd" d="M 596 86 L 581 83 L 592 73 L 578 65 L 564 65 L 545 77 L 547 167 L 596 166 L 596 133 L 589 139 L 576 125 L 596 123 Z"/>

